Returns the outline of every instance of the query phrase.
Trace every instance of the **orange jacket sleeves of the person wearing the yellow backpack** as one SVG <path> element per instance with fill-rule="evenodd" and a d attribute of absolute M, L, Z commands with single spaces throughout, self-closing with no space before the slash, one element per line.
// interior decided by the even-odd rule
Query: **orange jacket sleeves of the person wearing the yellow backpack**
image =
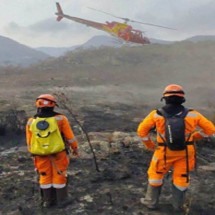
<path fill-rule="evenodd" d="M 78 142 L 75 138 L 75 135 L 70 127 L 69 121 L 66 116 L 59 114 L 55 116 L 55 119 L 57 120 L 59 130 L 61 134 L 63 135 L 64 139 L 66 140 L 66 143 L 73 149 L 76 150 L 78 148 Z M 30 125 L 33 121 L 33 118 L 29 118 L 27 125 L 26 125 L 26 141 L 29 145 L 31 143 L 31 137 L 32 133 L 30 131 Z"/>

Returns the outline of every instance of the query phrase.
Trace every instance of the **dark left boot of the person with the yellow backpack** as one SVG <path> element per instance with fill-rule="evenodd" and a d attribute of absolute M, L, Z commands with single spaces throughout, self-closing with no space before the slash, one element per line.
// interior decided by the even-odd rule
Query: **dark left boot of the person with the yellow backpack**
<path fill-rule="evenodd" d="M 56 204 L 56 191 L 55 188 L 41 189 L 42 207 L 50 208 Z"/>

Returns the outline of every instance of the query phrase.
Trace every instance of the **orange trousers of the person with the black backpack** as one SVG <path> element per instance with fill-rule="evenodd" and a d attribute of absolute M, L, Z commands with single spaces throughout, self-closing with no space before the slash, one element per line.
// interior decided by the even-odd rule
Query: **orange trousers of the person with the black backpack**
<path fill-rule="evenodd" d="M 187 169 L 187 162 L 189 170 Z M 184 190 L 189 186 L 187 171 L 192 171 L 194 167 L 195 153 L 193 150 L 188 152 L 187 160 L 185 150 L 183 152 L 177 152 L 166 149 L 165 151 L 164 147 L 159 147 L 154 152 L 148 169 L 149 184 L 151 186 L 161 186 L 163 184 L 165 174 L 171 169 L 173 171 L 173 184 Z"/>

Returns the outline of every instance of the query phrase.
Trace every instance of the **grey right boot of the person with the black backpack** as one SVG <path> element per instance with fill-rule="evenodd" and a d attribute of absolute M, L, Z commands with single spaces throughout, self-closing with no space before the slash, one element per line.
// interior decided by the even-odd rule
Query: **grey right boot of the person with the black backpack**
<path fill-rule="evenodd" d="M 175 212 L 184 212 L 185 194 L 186 190 L 181 191 L 172 185 L 172 206 Z"/>

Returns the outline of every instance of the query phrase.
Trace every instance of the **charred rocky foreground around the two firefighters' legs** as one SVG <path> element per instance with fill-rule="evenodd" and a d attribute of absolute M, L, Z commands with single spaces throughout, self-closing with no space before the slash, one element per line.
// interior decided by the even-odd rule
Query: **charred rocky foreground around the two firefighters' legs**
<path fill-rule="evenodd" d="M 40 208 L 37 175 L 24 144 L 0 148 L 0 214 L 73 215 L 172 215 L 171 174 L 166 177 L 158 211 L 140 203 L 146 191 L 147 168 L 152 156 L 134 132 L 89 132 L 96 155 L 78 135 L 80 157 L 71 158 L 69 194 L 72 202 L 64 209 Z M 187 213 L 215 214 L 215 145 L 198 144 L 198 168 L 191 175 Z M 95 165 L 97 164 L 97 165 Z"/>

